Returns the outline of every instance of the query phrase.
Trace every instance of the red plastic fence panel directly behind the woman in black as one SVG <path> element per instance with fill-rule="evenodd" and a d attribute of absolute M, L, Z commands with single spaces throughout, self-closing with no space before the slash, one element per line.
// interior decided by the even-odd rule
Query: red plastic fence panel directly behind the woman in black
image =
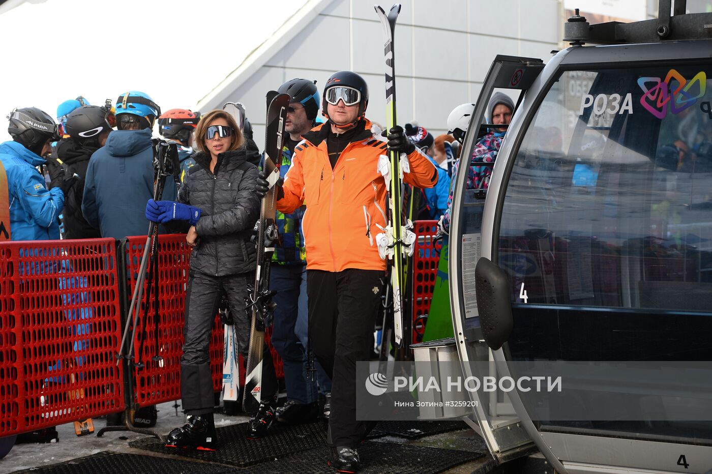
<path fill-rule="evenodd" d="M 183 321 L 185 315 L 185 295 L 188 285 L 191 249 L 187 246 L 183 234 L 159 236 L 159 331 L 158 352 L 155 349 L 155 322 L 153 317 L 153 302 L 151 295 L 145 332 L 143 322 L 136 331 L 134 347 L 135 362 L 144 367 L 135 367 L 136 402 L 139 406 L 159 404 L 164 401 L 180 399 L 180 357 L 183 346 Z M 137 271 L 140 268 L 143 246 L 146 236 L 127 237 L 125 243 L 127 278 L 127 295 L 133 294 Z M 148 282 L 146 282 L 147 285 Z M 147 288 L 144 288 L 144 300 Z M 128 306 L 128 305 L 127 305 Z M 238 309 L 239 311 L 241 308 Z M 143 319 L 143 308 L 141 312 Z M 145 343 L 141 339 L 145 334 Z M 282 361 L 273 349 L 268 330 L 266 341 L 272 352 L 277 377 L 284 376 Z M 216 315 L 210 337 L 210 365 L 215 391 L 222 389 L 223 362 L 223 325 Z M 160 359 L 154 360 L 155 357 Z M 241 383 L 244 374 L 241 371 Z"/>

